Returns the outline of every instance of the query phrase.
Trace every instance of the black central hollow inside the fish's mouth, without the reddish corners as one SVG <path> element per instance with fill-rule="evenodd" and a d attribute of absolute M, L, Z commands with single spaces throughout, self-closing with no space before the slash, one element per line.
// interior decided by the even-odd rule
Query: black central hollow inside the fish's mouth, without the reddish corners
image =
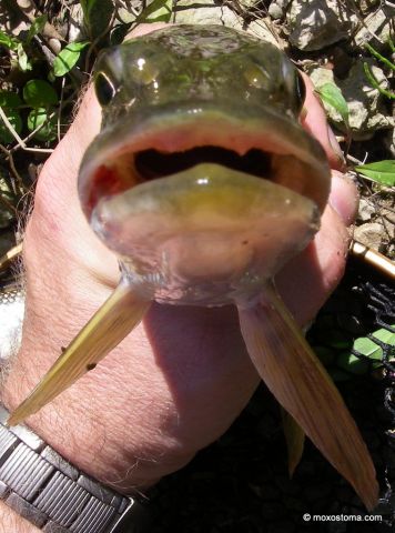
<path fill-rule="evenodd" d="M 135 154 L 134 167 L 144 181 L 174 174 L 200 163 L 216 163 L 269 179 L 271 161 L 270 153 L 257 149 L 251 149 L 244 155 L 240 155 L 233 150 L 206 145 L 172 153 L 159 152 L 154 149 L 143 150 Z"/>

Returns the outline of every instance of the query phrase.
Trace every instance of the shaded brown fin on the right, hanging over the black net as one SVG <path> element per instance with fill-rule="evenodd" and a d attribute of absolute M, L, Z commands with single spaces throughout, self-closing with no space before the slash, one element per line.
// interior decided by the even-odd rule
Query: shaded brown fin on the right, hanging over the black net
<path fill-rule="evenodd" d="M 239 315 L 251 360 L 267 388 L 373 510 L 378 484 L 366 444 L 274 285 L 260 302 L 239 304 Z"/>

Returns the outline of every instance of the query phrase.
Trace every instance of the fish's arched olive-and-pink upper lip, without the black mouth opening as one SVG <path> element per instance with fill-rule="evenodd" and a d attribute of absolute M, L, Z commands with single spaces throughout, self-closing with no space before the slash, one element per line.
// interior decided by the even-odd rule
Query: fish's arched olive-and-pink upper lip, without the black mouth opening
<path fill-rule="evenodd" d="M 277 163 L 284 158 L 294 158 L 302 165 L 301 175 L 298 182 L 285 185 L 311 198 L 323 211 L 330 192 L 327 159 L 318 141 L 294 118 L 240 102 L 232 111 L 229 102 L 225 108 L 211 102 L 186 102 L 176 107 L 152 107 L 143 113 L 118 120 L 99 133 L 85 152 L 79 174 L 79 195 L 85 215 L 90 219 L 103 195 L 113 195 L 138 184 L 126 179 L 125 183 L 117 183 L 115 189 L 104 183 L 103 190 L 98 192 L 97 178 L 102 169 L 117 169 L 118 178 L 120 161 L 129 158 L 130 174 L 131 161 L 138 152 L 155 149 L 174 153 L 206 145 L 232 150 L 239 155 L 257 149 L 276 158 Z"/>

